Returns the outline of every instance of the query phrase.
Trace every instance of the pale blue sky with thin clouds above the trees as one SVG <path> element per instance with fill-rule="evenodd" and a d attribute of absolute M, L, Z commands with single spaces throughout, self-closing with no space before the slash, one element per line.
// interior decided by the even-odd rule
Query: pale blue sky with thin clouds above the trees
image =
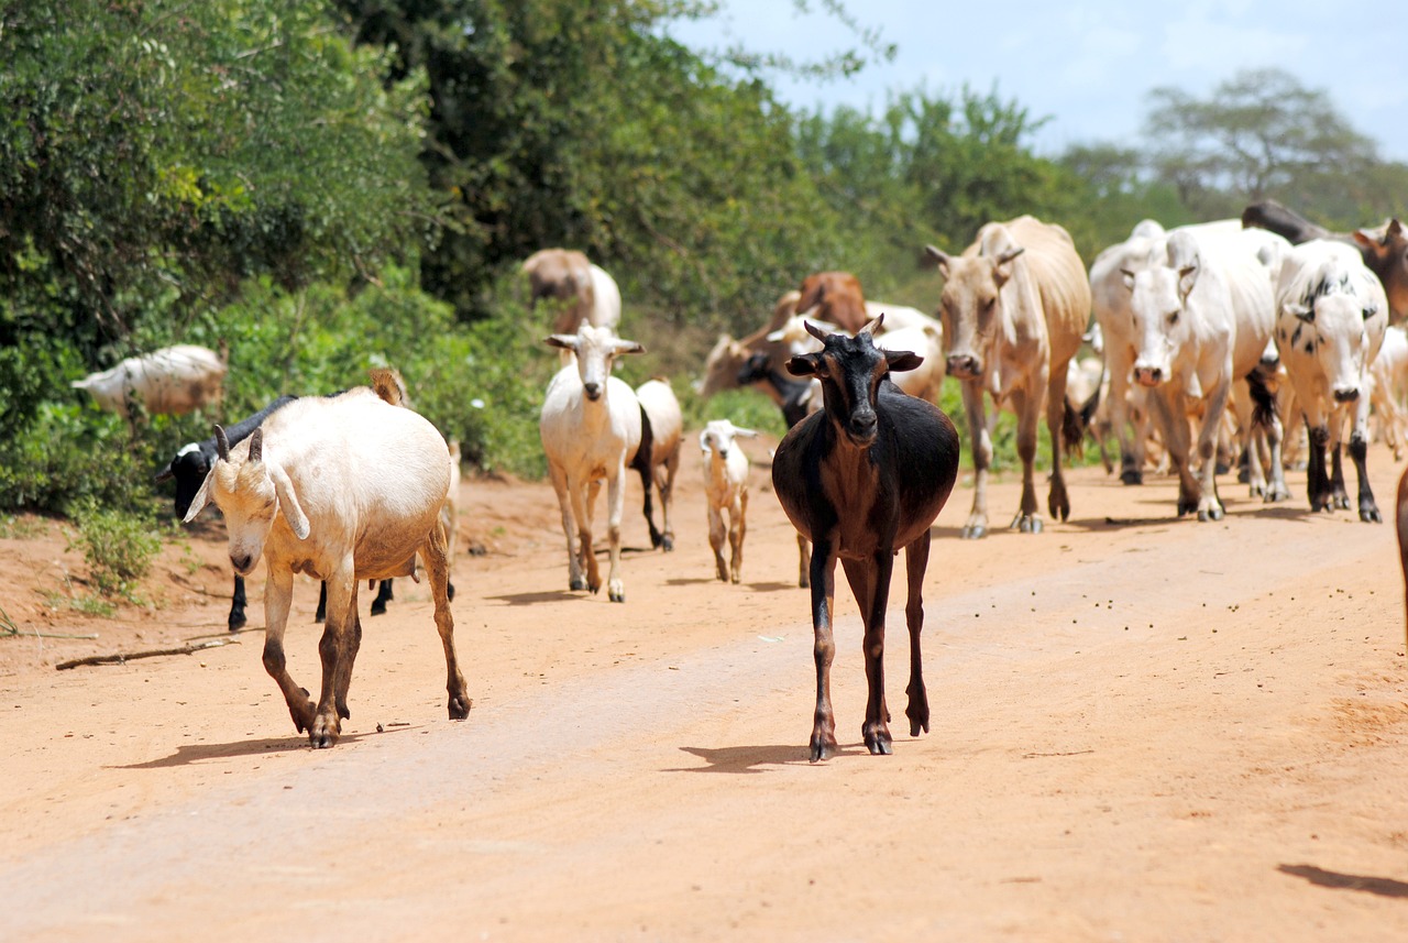
<path fill-rule="evenodd" d="M 741 42 L 807 59 L 856 38 L 821 11 L 791 0 L 724 0 L 724 10 L 669 34 L 696 48 Z M 1274 66 L 1329 96 L 1384 159 L 1408 162 L 1408 7 L 1335 0 L 848 0 L 846 8 L 898 46 L 888 63 L 850 79 L 798 83 L 770 76 L 779 97 L 812 110 L 848 104 L 879 113 L 887 91 L 949 94 L 967 83 L 995 89 L 1032 118 L 1043 155 L 1071 144 L 1143 142 L 1148 93 L 1173 86 L 1207 99 L 1242 69 Z M 1353 13 L 1349 13 L 1353 11 Z M 1374 13 L 1370 13 L 1374 11 Z M 1383 13 L 1378 13 L 1383 11 Z M 821 58 L 819 55 L 815 58 Z"/>

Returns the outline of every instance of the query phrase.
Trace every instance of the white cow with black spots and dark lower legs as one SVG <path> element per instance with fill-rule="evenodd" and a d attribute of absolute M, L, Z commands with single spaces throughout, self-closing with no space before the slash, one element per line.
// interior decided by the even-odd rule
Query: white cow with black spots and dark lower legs
<path fill-rule="evenodd" d="M 1359 519 L 1383 521 L 1364 469 L 1369 452 L 1369 365 L 1384 342 L 1388 298 L 1350 246 L 1312 239 L 1294 249 L 1276 290 L 1276 343 L 1305 417 L 1311 450 L 1305 490 L 1312 511 L 1347 508 L 1340 466 L 1346 414 L 1349 455 L 1359 473 Z M 1325 472 L 1325 450 L 1333 469 Z"/>

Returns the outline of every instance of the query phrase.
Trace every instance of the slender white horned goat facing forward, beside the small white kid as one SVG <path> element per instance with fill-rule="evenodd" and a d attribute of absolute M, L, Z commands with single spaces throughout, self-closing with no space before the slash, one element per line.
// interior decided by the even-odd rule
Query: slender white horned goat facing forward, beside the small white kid
<path fill-rule="evenodd" d="M 622 341 L 610 328 L 590 324 L 582 324 L 576 334 L 553 334 L 545 342 L 576 355 L 576 363 L 558 370 L 548 384 L 538 421 L 567 538 L 567 588 L 591 593 L 601 588 L 597 557 L 591 552 L 591 514 L 605 479 L 611 552 L 607 597 L 625 602 L 621 510 L 625 466 L 641 443 L 641 401 L 625 380 L 611 376 L 611 363 L 622 353 L 643 353 L 645 348 Z"/>

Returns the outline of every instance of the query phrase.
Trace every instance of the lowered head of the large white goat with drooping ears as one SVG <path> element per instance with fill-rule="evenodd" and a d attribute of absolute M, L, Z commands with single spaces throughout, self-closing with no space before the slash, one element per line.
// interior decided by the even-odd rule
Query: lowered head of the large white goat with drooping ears
<path fill-rule="evenodd" d="M 186 522 L 194 521 L 207 504 L 220 508 L 230 532 L 230 564 L 244 576 L 259 563 L 279 512 L 300 540 L 308 536 L 308 518 L 283 466 L 263 457 L 262 428 L 231 450 L 225 431 L 217 425 L 215 446 L 220 456 L 186 511 Z"/>

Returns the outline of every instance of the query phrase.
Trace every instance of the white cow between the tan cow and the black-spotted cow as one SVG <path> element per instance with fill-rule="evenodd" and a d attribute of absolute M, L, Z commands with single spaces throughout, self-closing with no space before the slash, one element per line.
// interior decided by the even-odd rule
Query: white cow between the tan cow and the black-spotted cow
<path fill-rule="evenodd" d="M 1247 235 L 1235 224 L 1183 227 L 1153 241 L 1142 267 L 1121 269 L 1131 293 L 1135 339 L 1133 380 L 1146 388 L 1173 470 L 1178 474 L 1178 515 L 1195 511 L 1200 521 L 1224 515 L 1217 494 L 1217 443 L 1224 414 L 1239 386 L 1239 403 L 1250 429 L 1250 381 L 1270 338 L 1273 300 L 1270 274 L 1256 246 L 1266 236 Z M 1105 334 L 1107 352 L 1112 341 Z M 1262 403 L 1269 395 L 1262 395 Z M 1191 469 L 1188 414 L 1201 411 L 1198 455 L 1201 479 Z M 1281 473 L 1280 425 L 1262 414 L 1269 428 L 1273 484 L 1267 500 L 1286 491 Z"/>

